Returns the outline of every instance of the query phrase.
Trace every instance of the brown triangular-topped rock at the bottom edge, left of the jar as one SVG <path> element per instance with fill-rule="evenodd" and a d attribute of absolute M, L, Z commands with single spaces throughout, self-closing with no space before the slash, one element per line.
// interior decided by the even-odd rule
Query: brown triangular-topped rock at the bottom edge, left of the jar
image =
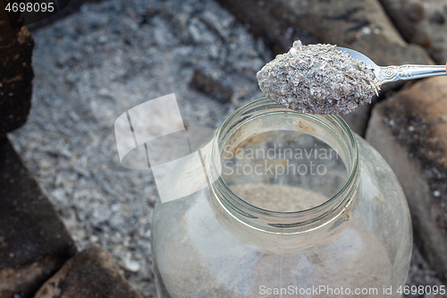
<path fill-rule="evenodd" d="M 122 276 L 114 257 L 93 246 L 68 260 L 35 298 L 141 298 Z"/>

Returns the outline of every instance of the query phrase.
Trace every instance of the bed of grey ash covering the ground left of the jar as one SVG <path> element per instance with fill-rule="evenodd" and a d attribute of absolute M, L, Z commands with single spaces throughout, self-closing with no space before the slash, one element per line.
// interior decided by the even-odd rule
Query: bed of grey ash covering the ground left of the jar
<path fill-rule="evenodd" d="M 215 128 L 242 103 L 262 97 L 256 72 L 272 56 L 206 0 L 85 4 L 33 36 L 32 114 L 10 138 L 80 249 L 105 247 L 140 294 L 155 297 L 150 225 L 158 194 L 150 170 L 121 166 L 114 121 L 175 93 L 187 127 Z M 231 90 L 232 100 L 191 89 L 196 70 Z M 416 258 L 409 280 L 437 283 L 433 276 Z"/>

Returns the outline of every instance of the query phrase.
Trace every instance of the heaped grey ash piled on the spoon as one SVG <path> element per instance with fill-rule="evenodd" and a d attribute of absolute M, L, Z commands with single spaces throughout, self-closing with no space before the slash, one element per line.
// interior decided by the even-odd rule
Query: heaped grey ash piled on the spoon
<path fill-rule="evenodd" d="M 371 103 L 380 89 L 364 62 L 335 46 L 299 40 L 257 72 L 257 81 L 266 97 L 308 114 L 348 114 Z"/>

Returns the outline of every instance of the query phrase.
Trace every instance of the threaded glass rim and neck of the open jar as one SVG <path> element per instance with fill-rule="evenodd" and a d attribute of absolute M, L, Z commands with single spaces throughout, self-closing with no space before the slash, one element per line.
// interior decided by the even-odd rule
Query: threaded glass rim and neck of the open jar
<path fill-rule="evenodd" d="M 240 132 L 242 125 L 261 119 L 266 115 L 280 116 L 285 114 L 294 119 L 293 121 L 312 123 L 312 130 L 308 134 L 317 137 L 319 132 L 324 132 L 333 144 L 342 149 L 341 157 L 348 172 L 346 183 L 331 198 L 310 209 L 275 211 L 254 206 L 232 192 L 221 175 L 223 164 L 221 160 L 225 159 L 224 152 L 234 145 L 232 140 L 234 140 L 235 133 L 243 135 Z M 316 129 L 313 127 L 316 127 Z M 299 233 L 329 223 L 346 208 L 353 197 L 353 193 L 358 188 L 358 160 L 356 137 L 340 115 L 300 114 L 278 105 L 269 98 L 259 98 L 237 109 L 217 130 L 209 159 L 211 171 L 208 171 L 208 175 L 212 182 L 211 190 L 220 205 L 232 217 L 246 225 L 266 232 Z"/>

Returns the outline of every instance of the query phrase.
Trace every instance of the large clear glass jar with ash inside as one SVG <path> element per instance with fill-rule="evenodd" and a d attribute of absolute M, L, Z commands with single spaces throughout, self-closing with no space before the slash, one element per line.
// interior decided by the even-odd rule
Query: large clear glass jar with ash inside
<path fill-rule="evenodd" d="M 235 111 L 210 148 L 209 187 L 156 203 L 159 297 L 401 296 L 407 201 L 339 115 L 261 98 Z"/>

